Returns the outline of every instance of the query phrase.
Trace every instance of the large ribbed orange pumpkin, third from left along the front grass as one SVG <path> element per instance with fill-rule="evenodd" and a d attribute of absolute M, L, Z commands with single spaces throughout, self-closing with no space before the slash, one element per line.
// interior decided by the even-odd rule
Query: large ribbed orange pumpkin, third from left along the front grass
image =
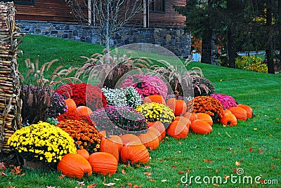
<path fill-rule="evenodd" d="M 127 165 L 133 163 L 148 163 L 149 152 L 145 145 L 138 142 L 129 142 L 121 151 L 121 160 Z"/>

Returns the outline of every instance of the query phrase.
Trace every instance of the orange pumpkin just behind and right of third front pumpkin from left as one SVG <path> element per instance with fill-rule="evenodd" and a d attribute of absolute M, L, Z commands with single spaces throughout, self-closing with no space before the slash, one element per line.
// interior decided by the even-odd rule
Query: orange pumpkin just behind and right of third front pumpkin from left
<path fill-rule="evenodd" d="M 141 143 L 151 151 L 159 147 L 159 139 L 157 135 L 151 131 L 148 133 L 141 133 L 138 137 L 140 138 Z"/>

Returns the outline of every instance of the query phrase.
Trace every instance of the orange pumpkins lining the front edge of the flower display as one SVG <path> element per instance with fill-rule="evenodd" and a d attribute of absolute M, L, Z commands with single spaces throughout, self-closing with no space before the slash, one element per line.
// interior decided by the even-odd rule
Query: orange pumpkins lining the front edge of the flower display
<path fill-rule="evenodd" d="M 92 173 L 100 175 L 112 175 L 116 173 L 118 162 L 126 163 L 148 163 L 149 151 L 157 149 L 160 141 L 166 133 L 176 139 L 188 136 L 191 129 L 194 133 L 208 134 L 212 131 L 213 120 L 209 114 L 190 113 L 183 100 L 170 98 L 164 100 L 161 95 L 150 95 L 144 98 L 143 102 L 158 102 L 168 105 L 174 112 L 176 118 L 170 123 L 168 128 L 160 121 L 149 122 L 147 133 L 140 135 L 124 134 L 107 135 L 105 131 L 100 131 L 103 135 L 100 141 L 100 151 L 89 154 L 86 149 L 77 149 L 77 154 L 65 154 L 58 162 L 58 170 L 68 177 L 88 177 Z M 84 108 L 83 115 L 89 113 L 89 109 Z M 79 114 L 79 113 L 77 113 Z M 237 119 L 246 121 L 251 118 L 253 112 L 247 105 L 237 105 L 230 109 L 223 110 L 220 122 L 224 126 L 236 126 Z"/>

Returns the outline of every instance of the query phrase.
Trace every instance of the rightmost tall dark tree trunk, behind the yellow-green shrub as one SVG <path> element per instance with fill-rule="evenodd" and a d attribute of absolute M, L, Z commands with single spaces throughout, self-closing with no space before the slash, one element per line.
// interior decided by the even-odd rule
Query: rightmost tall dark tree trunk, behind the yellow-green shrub
<path fill-rule="evenodd" d="M 273 39 L 272 39 L 272 5 L 273 1 L 268 0 L 267 1 L 267 11 L 266 11 L 266 26 L 268 29 L 268 41 L 266 44 L 266 58 L 268 63 L 268 73 L 269 74 L 275 74 L 274 71 L 274 62 L 273 62 L 273 56 L 274 56 L 274 50 L 273 50 Z"/>

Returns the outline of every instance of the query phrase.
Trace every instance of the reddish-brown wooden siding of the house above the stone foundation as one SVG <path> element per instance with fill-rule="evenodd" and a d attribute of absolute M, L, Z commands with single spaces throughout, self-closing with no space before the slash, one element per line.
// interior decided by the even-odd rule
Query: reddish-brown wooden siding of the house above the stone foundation
<path fill-rule="evenodd" d="M 185 25 L 185 17 L 174 11 L 173 5 L 185 6 L 186 0 L 165 0 L 163 13 L 150 12 L 150 25 Z M 15 4 L 19 20 L 65 21 L 75 22 L 71 14 L 72 8 L 65 4 L 65 0 L 35 0 L 34 6 Z M 143 24 L 143 13 L 138 13 L 132 24 Z"/>

